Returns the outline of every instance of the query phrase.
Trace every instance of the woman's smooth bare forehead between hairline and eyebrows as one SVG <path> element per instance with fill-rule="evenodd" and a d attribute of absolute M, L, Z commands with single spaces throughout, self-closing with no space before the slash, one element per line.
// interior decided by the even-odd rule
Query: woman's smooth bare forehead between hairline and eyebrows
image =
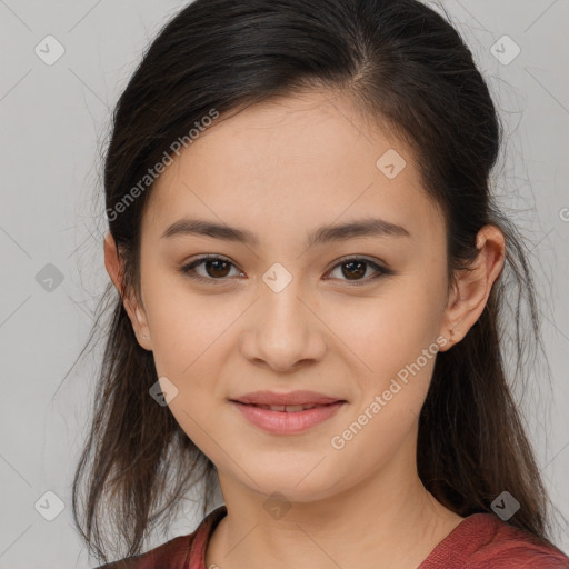
<path fill-rule="evenodd" d="M 154 183 L 143 232 L 158 237 L 186 214 L 277 239 L 376 213 L 415 228 L 415 239 L 440 239 L 410 149 L 378 122 L 322 91 L 220 117 Z"/>

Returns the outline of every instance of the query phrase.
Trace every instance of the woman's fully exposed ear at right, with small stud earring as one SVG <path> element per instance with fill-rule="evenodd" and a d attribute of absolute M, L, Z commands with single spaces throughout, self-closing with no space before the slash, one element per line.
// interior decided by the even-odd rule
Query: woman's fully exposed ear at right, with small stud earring
<path fill-rule="evenodd" d="M 478 256 L 473 263 L 460 271 L 443 315 L 441 333 L 449 342 L 440 351 L 450 349 L 465 338 L 480 318 L 493 283 L 503 270 L 506 240 L 495 226 L 485 226 L 477 236 Z"/>

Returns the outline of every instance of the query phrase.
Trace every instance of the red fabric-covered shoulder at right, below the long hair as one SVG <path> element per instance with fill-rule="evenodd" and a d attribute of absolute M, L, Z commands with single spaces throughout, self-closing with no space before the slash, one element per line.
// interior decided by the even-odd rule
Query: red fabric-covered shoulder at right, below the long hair
<path fill-rule="evenodd" d="M 449 565 L 450 563 L 450 565 Z M 569 569 L 569 558 L 550 543 L 491 513 L 465 518 L 420 569 Z"/>

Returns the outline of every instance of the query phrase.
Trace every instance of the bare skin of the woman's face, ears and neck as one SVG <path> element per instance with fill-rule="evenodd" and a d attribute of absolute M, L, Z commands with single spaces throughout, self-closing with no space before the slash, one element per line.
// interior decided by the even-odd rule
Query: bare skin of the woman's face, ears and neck
<path fill-rule="evenodd" d="M 389 149 L 407 161 L 395 179 L 376 167 Z M 316 228 L 371 214 L 410 238 L 307 249 Z M 259 244 L 160 237 L 184 216 L 248 229 Z M 208 546 L 208 568 L 415 568 L 462 521 L 417 473 L 418 415 L 435 358 L 343 448 L 330 441 L 437 338 L 445 351 L 477 321 L 502 270 L 503 236 L 487 226 L 477 246 L 473 270 L 457 274 L 447 295 L 443 219 L 410 149 L 330 92 L 219 119 L 167 168 L 142 219 L 141 298 L 126 297 L 124 306 L 159 377 L 178 389 L 171 412 L 218 468 L 228 516 Z M 110 234 L 104 253 L 122 291 Z M 232 264 L 196 270 L 211 280 L 223 274 L 224 283 L 179 271 L 207 253 Z M 339 260 L 361 257 L 396 273 L 342 272 Z M 262 280 L 276 262 L 292 277 L 278 293 Z M 266 389 L 348 402 L 306 432 L 270 435 L 228 401 Z M 274 492 L 289 508 L 282 517 L 264 507 Z"/>

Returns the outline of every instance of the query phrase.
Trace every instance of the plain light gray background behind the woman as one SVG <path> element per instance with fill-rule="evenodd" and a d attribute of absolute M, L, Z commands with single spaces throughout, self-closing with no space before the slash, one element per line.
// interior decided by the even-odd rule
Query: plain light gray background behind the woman
<path fill-rule="evenodd" d="M 71 522 L 70 482 L 99 351 L 63 377 L 108 281 L 99 156 L 110 112 L 148 42 L 184 4 L 0 0 L 2 569 L 96 565 Z M 569 1 L 442 4 L 488 77 L 506 126 L 497 187 L 532 249 L 551 366 L 551 395 L 545 368 L 536 370 L 533 385 L 545 395 L 529 393 L 526 416 L 553 502 L 569 517 Z M 64 48 L 51 66 L 34 52 L 38 44 L 47 51 L 48 34 Z M 521 50 L 512 61 L 516 47 L 505 34 Z M 501 62 L 492 54 L 497 41 Z M 49 51 L 57 53 L 54 43 Z M 63 503 L 53 521 L 39 513 L 56 512 L 47 491 Z M 189 508 L 153 543 L 198 521 Z M 569 551 L 567 526 L 563 533 L 557 542 Z"/>

